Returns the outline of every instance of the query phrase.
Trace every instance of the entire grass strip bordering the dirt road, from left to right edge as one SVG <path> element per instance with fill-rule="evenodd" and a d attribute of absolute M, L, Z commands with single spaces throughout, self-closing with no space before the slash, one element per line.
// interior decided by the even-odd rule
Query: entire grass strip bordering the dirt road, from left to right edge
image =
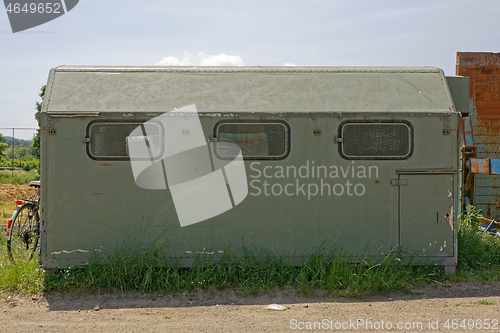
<path fill-rule="evenodd" d="M 286 256 L 268 251 L 221 254 L 219 263 L 199 255 L 191 268 L 181 268 L 162 252 L 161 242 L 147 249 L 139 243 L 107 255 L 94 256 L 85 269 L 56 269 L 45 274 L 34 261 L 12 263 L 1 246 L 0 291 L 112 291 L 194 292 L 231 289 L 242 294 L 292 288 L 308 295 L 317 290 L 331 295 L 356 297 L 389 291 L 408 292 L 413 286 L 453 280 L 498 281 L 500 237 L 478 231 L 479 212 L 469 207 L 458 228 L 457 274 L 444 275 L 441 266 L 411 265 L 412 258 L 392 252 L 382 258 L 351 263 L 342 250 L 318 248 L 300 266 Z M 5 244 L 5 235 L 0 236 Z M 403 264 L 410 261 L 410 265 Z M 479 303 L 478 303 L 479 304 Z M 483 304 L 483 303 L 480 303 Z M 489 304 L 489 303 L 488 303 Z"/>

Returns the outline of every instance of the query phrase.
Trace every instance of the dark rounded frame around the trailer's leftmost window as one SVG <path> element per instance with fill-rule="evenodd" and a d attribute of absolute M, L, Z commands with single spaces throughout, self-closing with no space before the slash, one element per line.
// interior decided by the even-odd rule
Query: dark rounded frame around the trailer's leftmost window
<path fill-rule="evenodd" d="M 86 138 L 86 145 L 85 145 L 85 150 L 87 152 L 87 156 L 94 160 L 94 161 L 130 161 L 130 156 L 129 157 L 123 157 L 123 156 L 95 156 L 92 155 L 90 149 L 91 149 L 91 137 L 90 133 L 91 130 L 94 126 L 100 125 L 100 124 L 113 124 L 113 125 L 120 125 L 120 124 L 135 124 L 137 126 L 144 125 L 146 122 L 148 123 L 155 123 L 159 130 L 160 130 L 160 153 L 157 156 L 153 156 L 153 160 L 158 160 L 163 156 L 163 153 L 165 151 L 165 129 L 163 128 L 163 125 L 154 119 L 96 119 L 92 120 L 87 124 L 87 128 L 85 130 L 85 138 Z M 151 161 L 151 158 L 137 158 L 134 157 L 134 161 Z"/>

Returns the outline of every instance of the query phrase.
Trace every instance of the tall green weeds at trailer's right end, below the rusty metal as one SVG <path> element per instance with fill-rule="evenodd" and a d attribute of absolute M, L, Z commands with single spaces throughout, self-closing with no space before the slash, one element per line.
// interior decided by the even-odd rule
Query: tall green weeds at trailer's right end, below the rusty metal
<path fill-rule="evenodd" d="M 479 230 L 480 210 L 467 207 L 458 225 L 458 271 L 479 279 L 500 278 L 500 237 Z M 472 275 L 471 275 L 472 274 Z"/>

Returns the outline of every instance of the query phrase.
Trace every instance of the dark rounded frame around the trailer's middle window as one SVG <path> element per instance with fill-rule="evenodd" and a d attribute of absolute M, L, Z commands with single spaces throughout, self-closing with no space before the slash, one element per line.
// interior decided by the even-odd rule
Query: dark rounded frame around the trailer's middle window
<path fill-rule="evenodd" d="M 281 156 L 269 156 L 269 157 L 244 157 L 245 161 L 281 161 L 286 159 L 290 155 L 292 140 L 291 140 L 291 130 L 290 124 L 281 119 L 268 119 L 268 120 L 260 120 L 260 119 L 234 119 L 234 120 L 220 120 L 214 125 L 213 137 L 215 139 L 218 138 L 218 128 L 222 124 L 281 124 L 285 128 L 285 153 Z M 217 144 L 217 141 L 216 141 Z M 223 157 L 217 154 L 217 149 L 214 149 L 215 156 L 220 160 L 232 160 L 231 157 Z"/>

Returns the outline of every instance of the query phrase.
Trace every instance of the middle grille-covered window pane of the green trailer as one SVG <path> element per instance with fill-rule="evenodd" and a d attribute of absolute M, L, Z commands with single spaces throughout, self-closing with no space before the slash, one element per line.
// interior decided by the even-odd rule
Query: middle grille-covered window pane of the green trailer
<path fill-rule="evenodd" d="M 244 159 L 284 159 L 290 151 L 290 130 L 281 121 L 224 121 L 216 125 L 214 134 L 218 142 L 237 144 Z M 216 145 L 216 155 L 222 159 L 234 156 L 225 149 L 224 145 Z"/>

